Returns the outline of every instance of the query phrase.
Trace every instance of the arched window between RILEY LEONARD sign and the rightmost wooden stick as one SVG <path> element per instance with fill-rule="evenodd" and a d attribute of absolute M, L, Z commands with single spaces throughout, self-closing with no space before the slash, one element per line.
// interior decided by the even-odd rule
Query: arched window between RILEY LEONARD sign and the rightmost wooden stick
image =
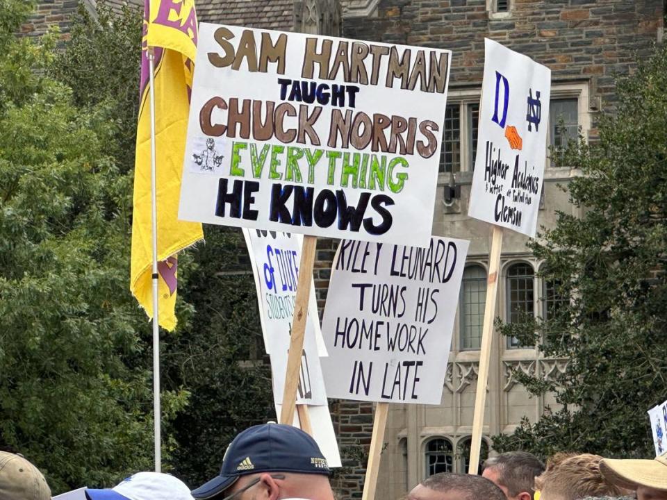
<path fill-rule="evenodd" d="M 479 349 L 486 303 L 486 271 L 472 265 L 463 271 L 461 283 L 461 349 Z"/>

